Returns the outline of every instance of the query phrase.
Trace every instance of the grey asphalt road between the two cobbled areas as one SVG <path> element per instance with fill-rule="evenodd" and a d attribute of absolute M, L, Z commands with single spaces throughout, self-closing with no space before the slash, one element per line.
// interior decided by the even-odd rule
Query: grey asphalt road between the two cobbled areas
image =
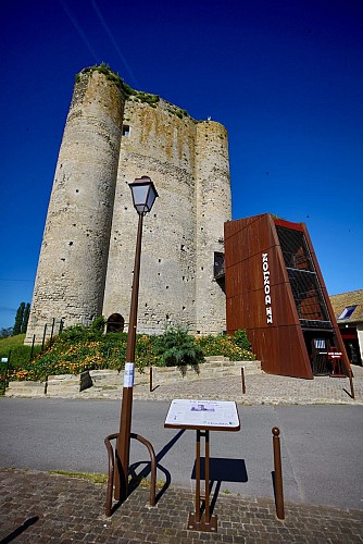
<path fill-rule="evenodd" d="M 118 431 L 115 400 L 0 398 L 0 466 L 107 472 L 103 440 Z M 196 433 L 164 429 L 168 403 L 134 400 L 133 431 L 148 438 L 158 479 L 193 485 Z M 211 432 L 211 478 L 220 492 L 273 496 L 272 428 L 281 433 L 286 500 L 363 508 L 362 406 L 239 406 L 241 430 Z M 140 471 L 148 454 L 133 441 Z M 220 483 L 218 483 L 220 482 Z"/>

